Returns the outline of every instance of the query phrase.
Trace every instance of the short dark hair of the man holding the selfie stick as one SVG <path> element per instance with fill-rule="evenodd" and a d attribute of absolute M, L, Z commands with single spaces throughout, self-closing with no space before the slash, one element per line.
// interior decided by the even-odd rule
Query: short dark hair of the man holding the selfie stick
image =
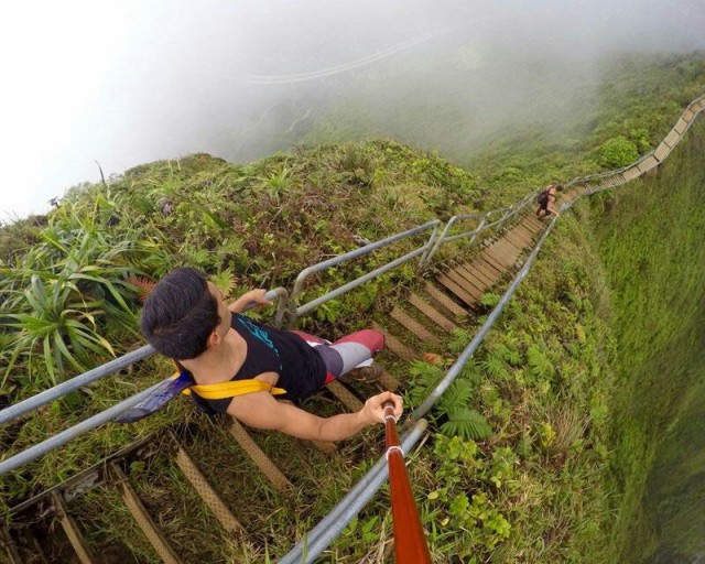
<path fill-rule="evenodd" d="M 176 360 L 202 355 L 220 323 L 206 276 L 196 269 L 171 271 L 154 286 L 142 308 L 140 327 L 159 352 Z"/>

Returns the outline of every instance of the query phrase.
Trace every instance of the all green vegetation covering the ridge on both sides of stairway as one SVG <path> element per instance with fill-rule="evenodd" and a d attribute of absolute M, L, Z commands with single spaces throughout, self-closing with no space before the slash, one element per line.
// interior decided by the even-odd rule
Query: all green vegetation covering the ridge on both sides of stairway
<path fill-rule="evenodd" d="M 197 154 L 72 189 L 46 218 L 0 230 L 0 318 L 8 328 L 0 334 L 0 401 L 19 401 L 135 348 L 140 295 L 174 267 L 203 269 L 230 296 L 254 285 L 291 288 L 305 265 L 365 240 L 456 213 L 488 210 L 550 181 L 636 158 L 668 132 L 685 101 L 702 94 L 705 61 L 702 54 L 630 57 L 605 69 L 604 77 L 589 109 L 561 128 L 522 124 L 481 151 L 456 153 L 456 160 L 471 164 L 471 173 L 435 153 L 367 141 L 301 149 L 246 165 Z M 447 113 L 455 116 L 452 109 Z M 426 121 L 420 111 L 417 127 Z M 436 127 L 449 130 L 447 123 Z M 705 452 L 687 456 L 704 436 L 702 424 L 694 423 L 703 421 L 705 387 L 694 382 L 702 375 L 696 351 L 704 315 L 702 307 L 691 307 L 703 303 L 705 263 L 697 191 L 703 169 L 694 158 L 703 153 L 699 134 L 697 142 L 688 139 L 679 148 L 659 177 L 561 218 L 500 322 L 430 414 L 431 433 L 408 459 L 438 562 L 457 556 L 453 562 L 597 564 L 632 557 L 637 563 L 657 547 L 673 553 L 668 539 L 679 550 L 699 550 L 688 527 L 698 522 L 702 501 L 684 513 L 680 506 L 686 502 L 679 497 L 687 490 L 687 499 L 696 499 L 690 492 L 696 490 Z M 336 135 L 330 132 L 337 142 Z M 302 300 L 423 240 L 332 269 L 311 281 Z M 467 250 L 448 246 L 437 260 Z M 303 318 L 303 326 L 328 337 L 365 326 L 419 278 L 404 265 L 326 303 Z M 486 294 L 477 316 L 445 347 L 416 344 L 432 352 L 429 361 L 408 366 L 384 354 L 382 362 L 404 383 L 406 405 L 420 404 L 443 377 L 501 291 L 502 284 Z M 47 405 L 2 430 L 6 453 L 75 424 L 171 370 L 166 360 L 150 358 Z M 338 409 L 325 395 L 304 408 L 322 415 Z M 246 543 L 220 533 L 166 456 L 173 445 L 164 440 L 129 469 L 174 547 L 193 561 L 261 562 L 281 555 L 381 449 L 379 429 L 341 445 L 334 457 L 276 433 L 256 432 L 294 482 L 292 491 L 280 494 L 227 440 L 219 421 L 174 401 L 139 424 L 104 426 L 12 474 L 2 482 L 3 501 L 26 499 L 175 423 L 249 532 Z M 131 554 L 156 562 L 113 487 L 93 490 L 76 503 L 91 544 L 109 545 L 106 554 L 113 551 L 116 561 Z M 657 513 L 660 539 L 651 527 Z M 332 561 L 380 558 L 389 550 L 390 529 L 388 498 L 377 496 L 332 546 Z M 641 552 L 632 550 L 634 542 Z"/>

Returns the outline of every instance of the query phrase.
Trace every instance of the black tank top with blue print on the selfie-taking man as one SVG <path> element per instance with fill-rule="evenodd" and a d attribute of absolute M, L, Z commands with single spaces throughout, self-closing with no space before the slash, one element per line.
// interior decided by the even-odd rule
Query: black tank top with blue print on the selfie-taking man
<path fill-rule="evenodd" d="M 314 347 L 295 333 L 263 325 L 238 313 L 232 314 L 230 326 L 247 343 L 245 362 L 230 380 L 249 380 L 264 372 L 276 372 L 276 388 L 286 390 L 275 399 L 300 400 L 314 393 L 326 379 L 326 366 Z M 205 400 L 196 393 L 191 397 L 205 411 L 226 413 L 232 398 Z"/>

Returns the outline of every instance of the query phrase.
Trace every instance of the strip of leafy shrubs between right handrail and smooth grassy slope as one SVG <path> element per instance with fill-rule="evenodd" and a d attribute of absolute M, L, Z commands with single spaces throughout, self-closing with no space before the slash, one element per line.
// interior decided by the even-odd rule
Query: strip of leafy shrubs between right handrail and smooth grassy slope
<path fill-rule="evenodd" d="M 609 456 L 608 338 L 594 306 L 606 292 L 581 224 L 566 217 L 556 235 L 456 384 L 469 388 L 462 404 L 486 417 L 491 436 L 436 435 L 433 455 L 419 455 L 430 464 L 422 489 L 438 554 L 614 561 L 603 542 L 609 502 L 600 471 Z M 434 413 L 441 429 L 447 410 Z"/>

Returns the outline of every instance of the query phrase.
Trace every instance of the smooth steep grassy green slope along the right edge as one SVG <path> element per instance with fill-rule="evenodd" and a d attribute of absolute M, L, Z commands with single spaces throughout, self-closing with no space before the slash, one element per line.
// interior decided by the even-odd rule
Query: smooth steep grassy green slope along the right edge
<path fill-rule="evenodd" d="M 605 195 L 596 232 L 615 311 L 619 562 L 705 549 L 705 128 L 657 176 Z M 701 485 L 698 485 L 701 484 Z"/>

